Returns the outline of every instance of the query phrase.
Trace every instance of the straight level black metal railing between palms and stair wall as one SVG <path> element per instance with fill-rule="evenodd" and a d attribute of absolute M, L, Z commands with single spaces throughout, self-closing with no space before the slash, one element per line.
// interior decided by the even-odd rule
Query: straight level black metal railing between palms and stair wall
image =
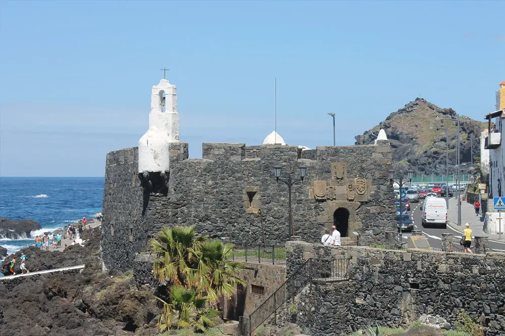
<path fill-rule="evenodd" d="M 277 245 L 234 243 L 232 259 L 244 262 L 286 263 L 286 248 Z"/>

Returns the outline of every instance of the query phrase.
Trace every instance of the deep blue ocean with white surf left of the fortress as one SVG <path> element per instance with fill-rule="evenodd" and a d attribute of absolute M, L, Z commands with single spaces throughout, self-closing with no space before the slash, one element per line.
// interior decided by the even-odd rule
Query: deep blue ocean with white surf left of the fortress
<path fill-rule="evenodd" d="M 93 218 L 102 211 L 104 178 L 21 178 L 0 177 L 0 217 L 30 218 L 42 230 L 28 239 L 0 239 L 8 253 L 33 244 L 35 236 Z"/>

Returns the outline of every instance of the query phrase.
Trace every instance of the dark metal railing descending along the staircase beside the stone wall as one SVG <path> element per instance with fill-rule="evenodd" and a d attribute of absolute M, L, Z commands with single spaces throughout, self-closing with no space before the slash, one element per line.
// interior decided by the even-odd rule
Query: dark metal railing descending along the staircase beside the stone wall
<path fill-rule="evenodd" d="M 311 282 L 320 281 L 345 281 L 348 276 L 348 259 L 323 260 L 309 259 L 292 273 L 286 281 L 275 290 L 255 311 L 249 316 L 240 316 L 239 334 L 248 336 L 252 331 L 264 323 L 272 314 L 275 314 L 288 299 L 300 288 Z"/>

